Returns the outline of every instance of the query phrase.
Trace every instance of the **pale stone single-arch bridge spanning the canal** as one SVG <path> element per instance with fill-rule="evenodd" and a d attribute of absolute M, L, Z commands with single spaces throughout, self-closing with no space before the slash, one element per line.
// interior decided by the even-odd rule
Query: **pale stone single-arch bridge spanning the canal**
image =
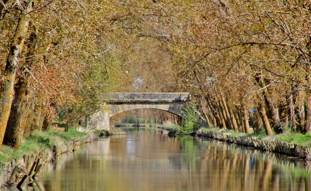
<path fill-rule="evenodd" d="M 109 93 L 104 99 L 104 109 L 95 113 L 89 126 L 110 130 L 110 117 L 132 109 L 153 108 L 173 113 L 179 117 L 189 93 Z"/>

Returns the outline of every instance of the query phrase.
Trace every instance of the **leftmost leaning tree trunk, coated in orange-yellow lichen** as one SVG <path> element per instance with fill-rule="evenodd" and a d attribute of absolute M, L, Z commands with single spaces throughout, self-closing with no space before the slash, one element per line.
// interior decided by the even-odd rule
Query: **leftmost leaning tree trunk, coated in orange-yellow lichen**
<path fill-rule="evenodd" d="M 22 2 L 21 15 L 26 12 L 30 12 L 33 7 L 33 2 Z M 8 118 L 11 111 L 12 99 L 14 94 L 14 81 L 16 76 L 16 68 L 19 61 L 19 55 L 21 54 L 26 33 L 29 26 L 30 16 L 26 15 L 18 20 L 15 34 L 13 36 L 13 41 L 7 57 L 7 62 L 5 70 L 0 82 L 0 147 L 3 142 L 4 134 L 7 127 Z M 13 137 L 17 139 L 17 137 Z M 19 146 L 14 146 L 17 149 Z"/>

